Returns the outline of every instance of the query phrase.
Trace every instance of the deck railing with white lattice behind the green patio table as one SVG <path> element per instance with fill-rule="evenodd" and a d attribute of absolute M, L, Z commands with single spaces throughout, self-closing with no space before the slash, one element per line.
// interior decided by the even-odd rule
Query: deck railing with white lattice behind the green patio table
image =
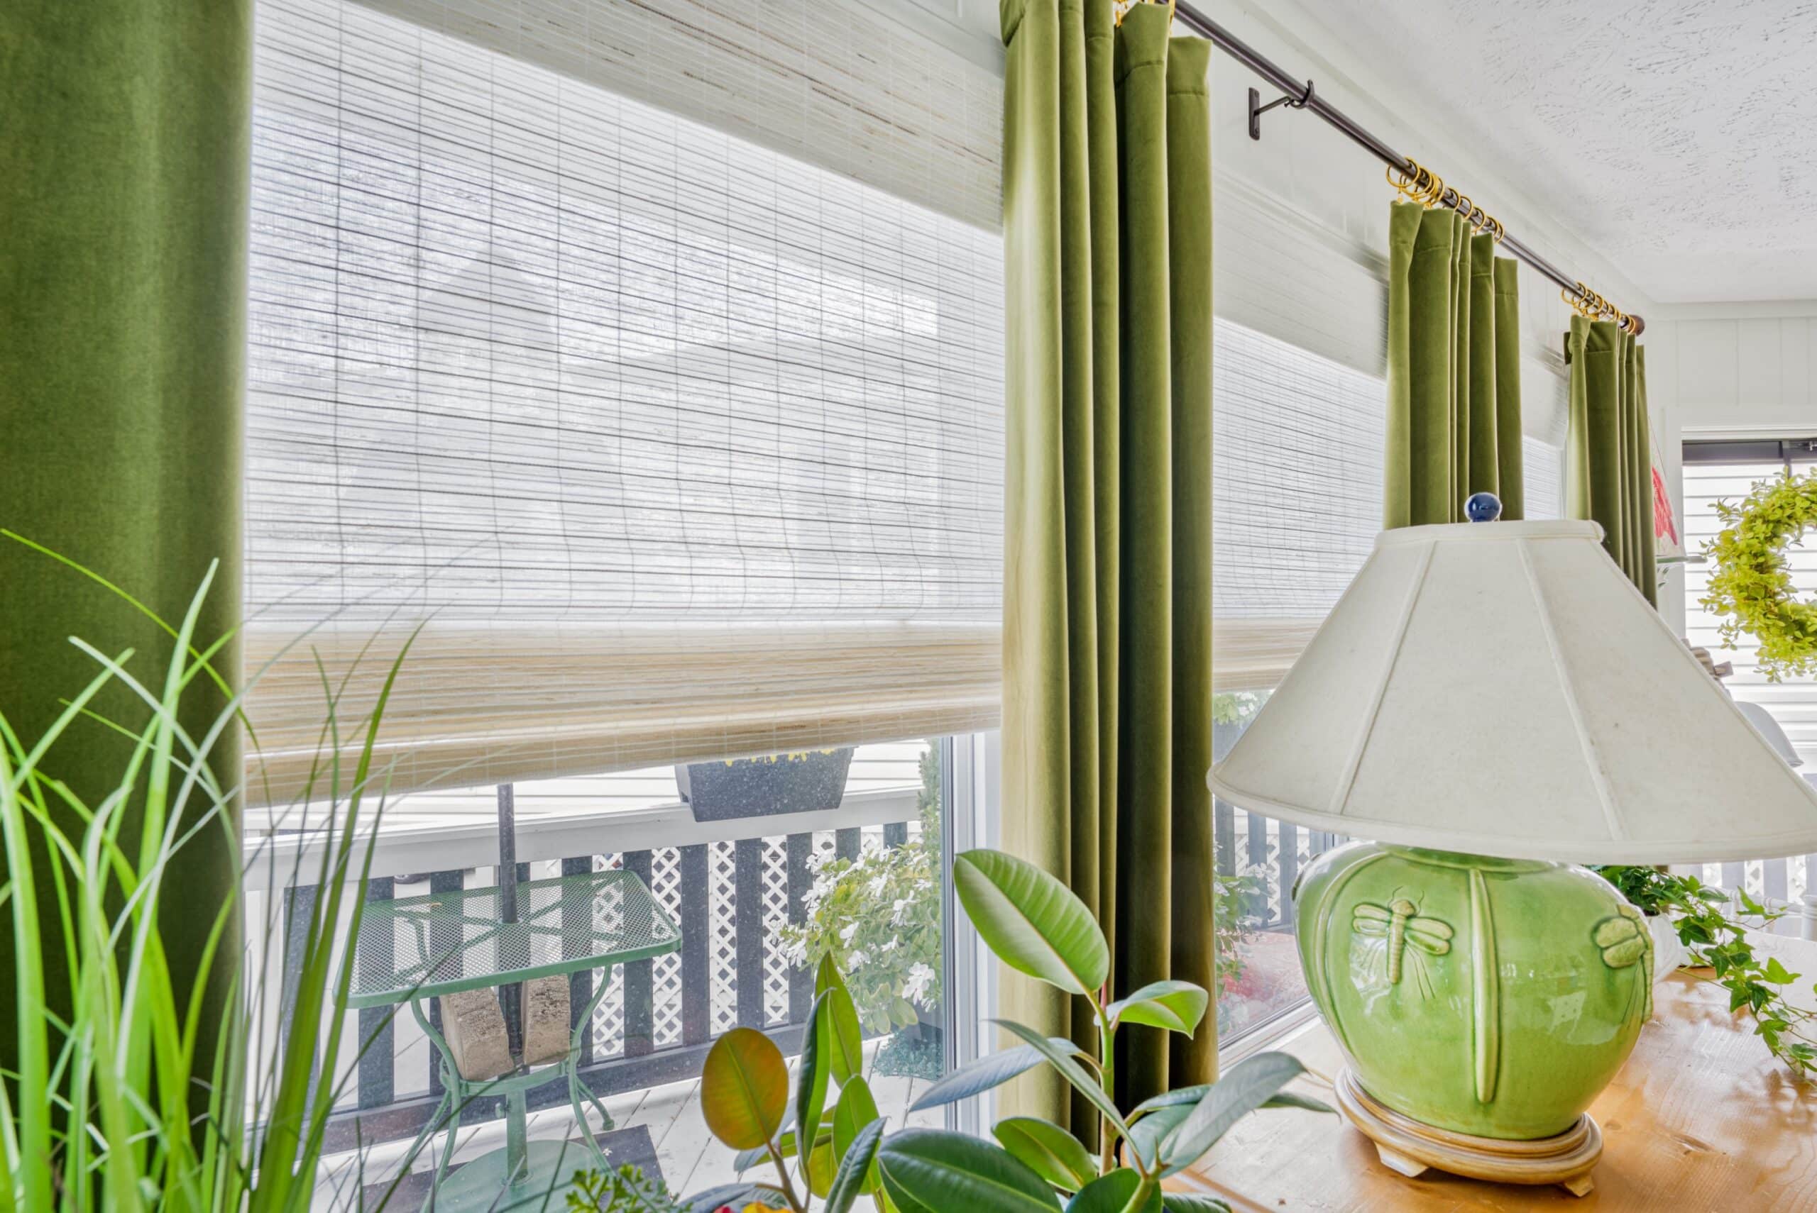
<path fill-rule="evenodd" d="M 867 843 L 907 843 L 919 832 L 918 795 L 916 786 L 852 792 L 836 810 L 709 823 L 694 821 L 687 804 L 520 819 L 520 879 L 629 868 L 681 924 L 680 953 L 612 973 L 585 1044 L 583 1066 L 594 1090 L 612 1093 L 689 1077 L 712 1039 L 740 1024 L 792 1048 L 812 1004 L 812 975 L 787 962 L 778 932 L 805 913 L 812 855 L 856 857 Z M 249 962 L 254 981 L 263 979 L 274 991 L 263 1001 L 260 1022 L 267 1048 L 287 1035 L 289 979 L 300 957 L 287 953 L 285 922 L 320 892 L 309 881 L 320 870 L 322 846 L 320 832 L 249 841 L 247 939 L 263 944 Z M 369 899 L 487 886 L 496 863 L 496 824 L 483 821 L 380 830 Z M 756 915 L 740 913 L 745 899 L 758 901 Z M 594 977 L 574 975 L 576 1013 Z M 427 1040 L 409 1015 L 394 1008 L 351 1011 L 347 1039 L 369 1037 L 372 1048 L 347 1062 L 352 1070 L 331 1149 L 411 1137 L 442 1095 Z M 549 1102 L 565 1100 L 565 1086 L 549 1091 Z M 482 1120 L 487 1111 L 472 1108 L 463 1119 Z"/>

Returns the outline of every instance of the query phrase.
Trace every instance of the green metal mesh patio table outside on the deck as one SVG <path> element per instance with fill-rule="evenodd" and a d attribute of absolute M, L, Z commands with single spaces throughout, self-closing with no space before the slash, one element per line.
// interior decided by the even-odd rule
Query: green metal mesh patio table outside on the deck
<path fill-rule="evenodd" d="M 407 1155 L 416 1159 L 438 1128 L 447 1126 L 447 1146 L 423 1202 L 425 1209 L 503 1213 L 561 1208 L 551 1202 L 561 1198 L 576 1169 L 605 1166 L 605 1153 L 585 1129 L 581 1099 L 600 1113 L 603 1129 L 612 1128 L 612 1119 L 580 1077 L 583 1033 L 592 1028 L 592 1013 L 611 984 L 612 966 L 680 948 L 681 930 L 674 919 L 636 873 L 623 870 L 374 901 L 365 906 L 347 1006 L 407 1002 L 442 1057 L 442 1104 Z M 443 993 L 596 968 L 605 970 L 605 975 L 574 1021 L 567 1055 L 534 1070 L 520 1062 L 498 1079 L 462 1079 L 449 1042 L 427 1013 L 429 999 Z M 585 1144 L 527 1140 L 529 1091 L 563 1077 Z M 462 1109 L 487 1095 L 505 1099 L 505 1146 L 462 1164 L 451 1177 Z"/>

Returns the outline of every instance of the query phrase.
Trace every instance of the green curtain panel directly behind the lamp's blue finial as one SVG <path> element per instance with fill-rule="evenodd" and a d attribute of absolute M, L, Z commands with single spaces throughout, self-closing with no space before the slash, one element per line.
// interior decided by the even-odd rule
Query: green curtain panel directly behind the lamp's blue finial
<path fill-rule="evenodd" d="M 1474 492 L 1524 518 L 1515 271 L 1455 211 L 1392 203 L 1385 527 L 1461 523 Z"/>

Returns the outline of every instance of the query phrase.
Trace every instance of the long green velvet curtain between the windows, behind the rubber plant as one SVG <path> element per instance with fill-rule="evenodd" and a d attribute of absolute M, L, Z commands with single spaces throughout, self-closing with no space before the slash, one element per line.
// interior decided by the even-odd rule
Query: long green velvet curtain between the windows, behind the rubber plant
<path fill-rule="evenodd" d="M 1212 988 L 1210 44 L 1165 5 L 1005 0 L 1008 468 L 1003 841 L 1097 913 L 1119 991 Z M 1007 1013 L 1092 1040 L 1007 975 Z M 1119 1033 L 1127 1099 L 1210 1080 Z M 1090 1137 L 1047 1075 L 1010 1102 Z"/>

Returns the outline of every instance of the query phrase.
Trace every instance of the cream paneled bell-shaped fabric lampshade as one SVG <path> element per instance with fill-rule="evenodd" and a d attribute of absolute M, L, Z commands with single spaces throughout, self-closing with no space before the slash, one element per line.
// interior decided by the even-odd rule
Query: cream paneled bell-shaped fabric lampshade
<path fill-rule="evenodd" d="M 1506 859 L 1817 852 L 1817 788 L 1599 539 L 1577 521 L 1383 532 L 1212 790 L 1314 830 Z"/>

